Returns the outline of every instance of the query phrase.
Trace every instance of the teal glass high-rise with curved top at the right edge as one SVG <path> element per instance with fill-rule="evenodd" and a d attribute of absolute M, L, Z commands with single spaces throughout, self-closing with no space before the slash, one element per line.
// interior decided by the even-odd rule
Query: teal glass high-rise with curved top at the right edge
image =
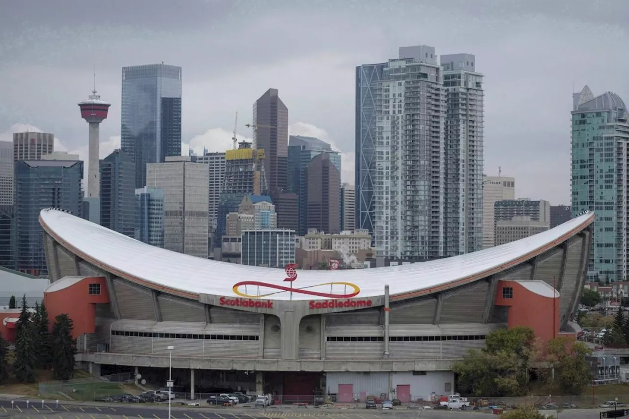
<path fill-rule="evenodd" d="M 572 216 L 596 211 L 587 279 L 628 277 L 629 113 L 615 93 L 573 95 Z"/>

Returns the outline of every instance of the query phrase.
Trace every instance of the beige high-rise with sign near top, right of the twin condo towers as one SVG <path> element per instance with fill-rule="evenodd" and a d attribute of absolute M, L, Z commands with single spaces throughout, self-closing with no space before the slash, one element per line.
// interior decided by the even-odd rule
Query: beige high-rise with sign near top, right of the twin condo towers
<path fill-rule="evenodd" d="M 484 176 L 482 180 L 482 248 L 494 247 L 494 204 L 515 199 L 515 178 Z"/>

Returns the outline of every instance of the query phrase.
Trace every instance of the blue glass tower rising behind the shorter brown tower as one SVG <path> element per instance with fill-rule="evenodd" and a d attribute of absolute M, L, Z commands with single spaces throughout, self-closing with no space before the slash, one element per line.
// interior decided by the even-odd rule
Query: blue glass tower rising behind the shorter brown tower
<path fill-rule="evenodd" d="M 298 196 L 298 235 L 308 232 L 308 165 L 321 153 L 341 172 L 341 155 L 330 144 L 315 137 L 291 135 L 288 142 L 288 190 Z"/>

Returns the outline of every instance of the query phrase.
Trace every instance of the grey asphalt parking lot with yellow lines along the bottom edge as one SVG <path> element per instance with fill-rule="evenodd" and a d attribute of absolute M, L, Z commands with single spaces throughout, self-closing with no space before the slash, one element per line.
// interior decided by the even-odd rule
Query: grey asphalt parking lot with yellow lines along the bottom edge
<path fill-rule="evenodd" d="M 545 410 L 543 413 L 557 418 L 557 413 Z M 564 410 L 559 419 L 591 419 L 598 417 L 598 409 Z M 209 408 L 208 406 L 172 406 L 170 419 L 487 419 L 487 413 L 455 410 L 346 410 L 339 412 L 315 408 Z M 25 399 L 0 400 L 0 419 L 168 419 L 168 406 L 136 405 L 134 403 L 69 404 L 47 401 L 26 403 Z"/>

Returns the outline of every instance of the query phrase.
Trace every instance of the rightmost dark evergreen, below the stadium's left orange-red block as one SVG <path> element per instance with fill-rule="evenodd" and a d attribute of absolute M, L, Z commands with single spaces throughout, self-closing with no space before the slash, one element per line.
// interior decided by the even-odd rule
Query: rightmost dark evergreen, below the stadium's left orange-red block
<path fill-rule="evenodd" d="M 52 366 L 53 378 L 67 380 L 74 375 L 74 355 L 77 353 L 76 342 L 72 338 L 74 324 L 67 314 L 55 317 L 52 326 Z"/>

